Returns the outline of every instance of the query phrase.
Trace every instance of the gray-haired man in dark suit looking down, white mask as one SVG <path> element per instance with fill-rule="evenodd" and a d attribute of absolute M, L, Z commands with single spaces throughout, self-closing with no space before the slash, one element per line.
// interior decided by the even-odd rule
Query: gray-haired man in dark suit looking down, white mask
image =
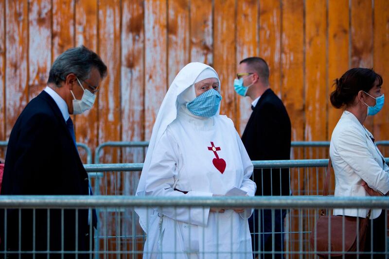
<path fill-rule="evenodd" d="M 58 56 L 47 87 L 27 104 L 12 129 L 2 195 L 91 194 L 70 115 L 92 107 L 105 76 L 106 65 L 84 46 Z M 77 252 L 78 258 L 89 258 L 97 217 L 88 209 L 79 209 L 78 215 L 74 209 L 7 209 L 6 229 L 4 211 L 0 217 L 0 252 L 6 238 L 8 258 L 18 258 L 19 249 L 36 251 L 35 258 L 75 258 L 74 251 L 85 251 Z M 33 258 L 26 252 L 20 255 Z"/>

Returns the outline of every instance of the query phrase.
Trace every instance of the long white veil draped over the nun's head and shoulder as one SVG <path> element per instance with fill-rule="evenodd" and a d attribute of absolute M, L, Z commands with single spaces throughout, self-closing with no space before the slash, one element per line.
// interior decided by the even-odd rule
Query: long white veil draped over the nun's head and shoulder
<path fill-rule="evenodd" d="M 203 71 L 204 73 L 202 73 Z M 150 168 L 150 161 L 156 144 L 158 143 L 162 134 L 165 132 L 167 126 L 177 118 L 177 110 L 180 105 L 182 105 L 184 102 L 192 101 L 194 99 L 193 97 L 195 97 L 194 88 L 192 87 L 188 89 L 188 87 L 192 86 L 195 82 L 210 78 L 211 76 L 209 76 L 209 74 L 216 74 L 217 76 L 216 71 L 206 64 L 199 62 L 189 63 L 178 72 L 176 78 L 173 80 L 173 83 L 170 85 L 169 90 L 167 91 L 165 98 L 163 99 L 163 102 L 159 108 L 157 119 L 153 127 L 153 132 L 151 134 L 150 144 L 147 149 L 146 158 L 144 160 L 143 170 L 141 173 L 141 179 L 139 180 L 138 189 L 136 191 L 136 196 L 145 195 L 147 172 Z M 204 78 L 201 79 L 200 77 Z M 183 96 L 180 96 L 182 99 L 178 101 L 178 95 L 183 93 L 185 90 L 187 91 L 183 94 Z M 219 114 L 219 111 L 220 106 L 217 114 Z M 154 214 L 153 208 L 136 208 L 135 211 L 139 216 L 139 223 L 141 224 L 142 229 L 147 233 L 148 227 L 153 224 L 158 216 Z"/>

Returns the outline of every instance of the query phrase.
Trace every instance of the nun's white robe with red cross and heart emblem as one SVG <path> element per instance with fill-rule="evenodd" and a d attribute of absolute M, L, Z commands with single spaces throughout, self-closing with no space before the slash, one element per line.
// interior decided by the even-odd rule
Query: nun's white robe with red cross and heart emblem
<path fill-rule="evenodd" d="M 200 120 L 179 109 L 177 119 L 155 146 L 145 192 L 164 197 L 212 197 L 236 187 L 254 196 L 256 186 L 249 179 L 252 172 L 250 158 L 230 119 L 216 115 Z M 232 209 L 214 213 L 209 207 L 164 207 L 154 213 L 159 220 L 149 228 L 143 258 L 252 258 L 250 213 L 238 214 Z"/>

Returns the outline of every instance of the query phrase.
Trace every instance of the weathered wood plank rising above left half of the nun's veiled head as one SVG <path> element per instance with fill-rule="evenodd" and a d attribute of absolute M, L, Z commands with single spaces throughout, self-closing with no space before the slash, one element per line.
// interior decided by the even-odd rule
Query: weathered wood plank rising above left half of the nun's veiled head
<path fill-rule="evenodd" d="M 168 0 L 168 85 L 190 62 L 189 0 Z"/>

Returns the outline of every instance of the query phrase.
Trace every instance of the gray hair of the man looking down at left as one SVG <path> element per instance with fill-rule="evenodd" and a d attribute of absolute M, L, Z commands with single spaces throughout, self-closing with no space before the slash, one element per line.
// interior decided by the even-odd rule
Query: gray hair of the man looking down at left
<path fill-rule="evenodd" d="M 75 74 L 79 80 L 84 81 L 89 78 L 92 68 L 99 71 L 101 78 L 106 76 L 106 65 L 99 55 L 84 46 L 71 48 L 55 59 L 47 83 L 60 87 L 69 74 Z"/>

